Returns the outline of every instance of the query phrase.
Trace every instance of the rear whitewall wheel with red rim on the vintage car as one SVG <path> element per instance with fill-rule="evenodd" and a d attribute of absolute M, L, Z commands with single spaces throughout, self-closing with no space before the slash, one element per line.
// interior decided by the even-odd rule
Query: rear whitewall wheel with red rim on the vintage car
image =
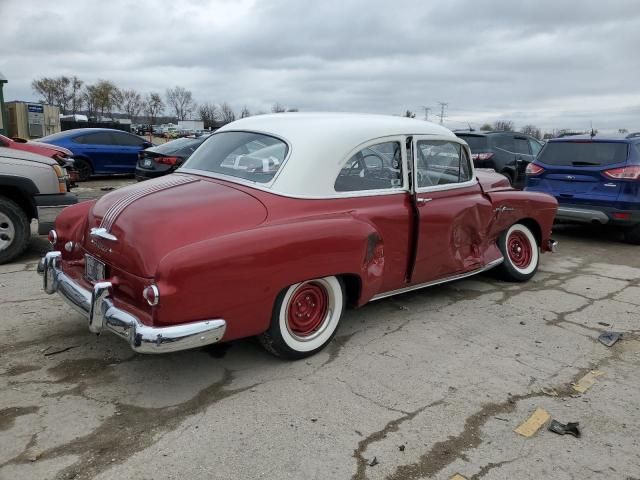
<path fill-rule="evenodd" d="M 319 352 L 336 333 L 346 303 L 344 292 L 344 284 L 336 277 L 291 285 L 278 295 L 271 325 L 260 335 L 260 343 L 289 359 Z"/>

